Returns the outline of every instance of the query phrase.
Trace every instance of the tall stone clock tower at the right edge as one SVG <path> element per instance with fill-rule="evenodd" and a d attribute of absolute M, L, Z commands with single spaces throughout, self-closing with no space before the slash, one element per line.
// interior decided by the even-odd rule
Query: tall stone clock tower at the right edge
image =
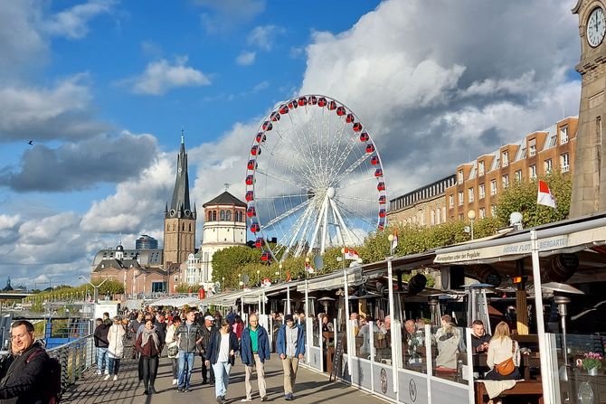
<path fill-rule="evenodd" d="M 573 8 L 573 14 L 579 15 L 581 61 L 576 70 L 581 73 L 582 86 L 571 217 L 606 211 L 606 142 L 602 140 L 606 120 L 605 12 L 604 0 L 578 0 Z"/>

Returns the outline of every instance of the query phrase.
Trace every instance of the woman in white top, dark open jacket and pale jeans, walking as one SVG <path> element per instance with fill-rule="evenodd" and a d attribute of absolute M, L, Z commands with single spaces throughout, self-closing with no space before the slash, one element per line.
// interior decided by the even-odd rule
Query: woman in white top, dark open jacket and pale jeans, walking
<path fill-rule="evenodd" d="M 222 319 L 221 328 L 211 335 L 211 341 L 204 355 L 206 366 L 213 364 L 214 393 L 219 404 L 227 402 L 227 386 L 230 384 L 230 371 L 238 351 L 238 337 L 232 331 L 230 322 Z"/>

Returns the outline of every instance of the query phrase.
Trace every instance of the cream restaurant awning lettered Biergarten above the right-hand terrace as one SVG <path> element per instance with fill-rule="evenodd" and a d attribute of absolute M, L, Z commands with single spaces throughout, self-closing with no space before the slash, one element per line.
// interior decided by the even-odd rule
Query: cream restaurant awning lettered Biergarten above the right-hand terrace
<path fill-rule="evenodd" d="M 536 228 L 541 257 L 576 252 L 606 242 L 606 217 L 560 221 Z M 436 264 L 488 264 L 524 258 L 531 254 L 530 230 L 502 238 L 480 240 L 436 250 Z"/>

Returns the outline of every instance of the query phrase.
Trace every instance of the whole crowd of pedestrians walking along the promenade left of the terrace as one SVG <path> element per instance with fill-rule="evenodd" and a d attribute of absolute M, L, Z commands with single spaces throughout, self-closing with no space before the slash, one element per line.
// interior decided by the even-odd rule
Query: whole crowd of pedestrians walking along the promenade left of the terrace
<path fill-rule="evenodd" d="M 298 361 L 305 353 L 304 327 L 300 318 L 293 315 L 273 315 L 277 324 L 276 352 L 284 369 L 284 398 L 294 399 L 294 385 Z M 191 388 L 192 371 L 196 357 L 201 357 L 202 384 L 214 386 L 217 402 L 226 402 L 230 374 L 236 357 L 245 366 L 246 397 L 252 400 L 252 374 L 257 372 L 261 401 L 266 401 L 265 362 L 270 359 L 268 330 L 259 324 L 259 316 L 249 315 L 249 324 L 241 316 L 230 311 L 225 317 L 216 312 L 202 313 L 196 308 L 182 311 L 155 312 L 145 310 L 126 312 L 122 317 L 109 319 L 104 314 L 97 319 L 94 332 L 98 352 L 97 374 L 104 380 L 118 380 L 119 358 L 126 354 L 128 340 L 132 342 L 133 359 L 138 358 L 139 380 L 143 381 L 143 394 L 156 394 L 156 374 L 160 356 L 172 364 L 173 385 L 176 392 L 188 392 Z M 121 331 L 118 331 L 121 330 Z M 119 341 L 118 341 L 119 340 Z"/>

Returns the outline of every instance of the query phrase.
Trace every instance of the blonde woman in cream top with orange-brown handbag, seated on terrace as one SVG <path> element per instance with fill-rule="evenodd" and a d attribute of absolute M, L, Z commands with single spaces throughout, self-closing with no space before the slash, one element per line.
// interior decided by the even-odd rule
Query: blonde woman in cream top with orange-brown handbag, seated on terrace
<path fill-rule="evenodd" d="M 520 347 L 509 336 L 509 325 L 502 321 L 497 324 L 495 334 L 488 343 L 487 364 L 490 371 L 485 376 L 488 381 L 515 381 L 521 379 Z"/>

